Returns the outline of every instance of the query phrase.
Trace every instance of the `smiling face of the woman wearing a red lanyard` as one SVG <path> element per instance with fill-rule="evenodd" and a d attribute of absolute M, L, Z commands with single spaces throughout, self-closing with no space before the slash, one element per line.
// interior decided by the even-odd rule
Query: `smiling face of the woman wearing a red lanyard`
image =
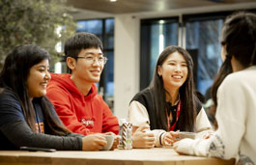
<path fill-rule="evenodd" d="M 187 64 L 185 58 L 178 51 L 170 54 L 161 66 L 158 66 L 157 73 L 162 77 L 163 86 L 169 89 L 180 89 L 187 77 Z"/>

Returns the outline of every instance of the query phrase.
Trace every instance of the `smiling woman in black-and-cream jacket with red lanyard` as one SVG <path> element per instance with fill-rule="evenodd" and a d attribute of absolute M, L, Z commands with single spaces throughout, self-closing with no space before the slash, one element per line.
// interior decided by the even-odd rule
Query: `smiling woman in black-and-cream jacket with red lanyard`
<path fill-rule="evenodd" d="M 204 136 L 212 129 L 194 90 L 192 68 L 184 48 L 168 46 L 161 52 L 150 86 L 129 104 L 133 148 L 172 145 L 179 136 L 177 130 Z"/>

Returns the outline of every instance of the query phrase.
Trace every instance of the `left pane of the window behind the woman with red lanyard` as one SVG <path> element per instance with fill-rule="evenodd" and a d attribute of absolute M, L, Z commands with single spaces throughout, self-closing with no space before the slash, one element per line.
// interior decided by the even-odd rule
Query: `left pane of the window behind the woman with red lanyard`
<path fill-rule="evenodd" d="M 178 17 L 141 21 L 140 90 L 150 84 L 156 60 L 164 47 L 178 44 L 178 28 Z"/>

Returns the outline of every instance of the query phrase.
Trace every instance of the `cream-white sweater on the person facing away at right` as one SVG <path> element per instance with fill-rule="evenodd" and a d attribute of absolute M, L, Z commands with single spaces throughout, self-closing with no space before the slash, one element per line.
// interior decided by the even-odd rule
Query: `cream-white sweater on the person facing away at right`
<path fill-rule="evenodd" d="M 217 91 L 218 129 L 208 139 L 184 139 L 177 151 L 187 154 L 236 157 L 256 163 L 256 67 L 229 74 Z"/>

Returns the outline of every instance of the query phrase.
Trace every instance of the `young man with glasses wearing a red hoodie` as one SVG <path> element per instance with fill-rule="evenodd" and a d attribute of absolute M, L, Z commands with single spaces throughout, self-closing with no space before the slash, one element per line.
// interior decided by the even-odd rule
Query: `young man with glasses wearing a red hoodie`
<path fill-rule="evenodd" d="M 75 133 L 114 132 L 118 134 L 118 119 L 102 97 L 95 83 L 106 63 L 102 43 L 90 33 L 77 33 L 65 42 L 66 62 L 70 73 L 52 73 L 47 96 L 57 114 Z"/>

